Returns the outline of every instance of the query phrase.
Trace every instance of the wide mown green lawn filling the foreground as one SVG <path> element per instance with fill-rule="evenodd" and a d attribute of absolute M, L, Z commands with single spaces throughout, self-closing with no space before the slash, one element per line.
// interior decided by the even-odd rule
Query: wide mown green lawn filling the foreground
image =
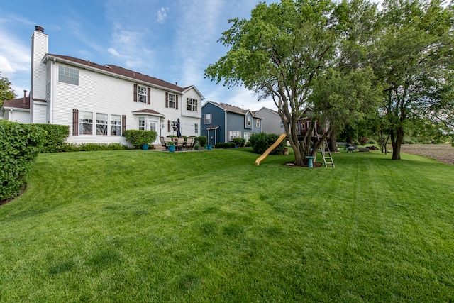
<path fill-rule="evenodd" d="M 0 206 L 0 302 L 452 302 L 452 165 L 248 148 L 39 155 Z"/>

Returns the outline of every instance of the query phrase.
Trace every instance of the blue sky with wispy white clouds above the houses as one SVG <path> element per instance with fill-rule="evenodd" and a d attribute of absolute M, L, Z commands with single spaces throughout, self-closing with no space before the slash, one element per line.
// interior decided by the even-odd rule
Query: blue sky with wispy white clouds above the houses
<path fill-rule="evenodd" d="M 0 72 L 18 97 L 30 90 L 31 35 L 49 36 L 49 53 L 114 64 L 245 109 L 272 101 L 204 79 L 227 49 L 217 43 L 230 18 L 250 18 L 260 0 L 0 0 Z M 270 2 L 270 1 L 267 1 Z"/>

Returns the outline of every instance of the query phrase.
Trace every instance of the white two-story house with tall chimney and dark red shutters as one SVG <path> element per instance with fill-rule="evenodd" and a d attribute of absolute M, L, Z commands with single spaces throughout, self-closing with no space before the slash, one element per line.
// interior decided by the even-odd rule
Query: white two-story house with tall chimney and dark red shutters
<path fill-rule="evenodd" d="M 31 92 L 6 101 L 1 116 L 22 123 L 70 126 L 70 143 L 123 143 L 126 129 L 159 136 L 201 136 L 201 101 L 196 87 L 179 87 L 116 65 L 48 53 L 40 26 L 31 38 Z M 28 119 L 27 119 L 28 116 Z"/>

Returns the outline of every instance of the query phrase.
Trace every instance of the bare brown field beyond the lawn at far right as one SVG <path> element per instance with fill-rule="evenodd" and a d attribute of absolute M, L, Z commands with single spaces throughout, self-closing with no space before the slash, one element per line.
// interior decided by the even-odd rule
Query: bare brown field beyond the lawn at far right
<path fill-rule="evenodd" d="M 404 144 L 401 150 L 402 153 L 422 155 L 454 165 L 454 148 L 451 145 Z"/>

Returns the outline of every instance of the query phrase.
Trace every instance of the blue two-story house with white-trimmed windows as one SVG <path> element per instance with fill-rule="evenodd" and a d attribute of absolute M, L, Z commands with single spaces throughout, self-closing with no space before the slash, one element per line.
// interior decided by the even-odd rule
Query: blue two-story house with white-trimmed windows
<path fill-rule="evenodd" d="M 262 119 L 249 109 L 241 109 L 224 103 L 206 101 L 201 108 L 201 136 L 208 138 L 208 144 L 233 141 L 262 131 Z"/>

